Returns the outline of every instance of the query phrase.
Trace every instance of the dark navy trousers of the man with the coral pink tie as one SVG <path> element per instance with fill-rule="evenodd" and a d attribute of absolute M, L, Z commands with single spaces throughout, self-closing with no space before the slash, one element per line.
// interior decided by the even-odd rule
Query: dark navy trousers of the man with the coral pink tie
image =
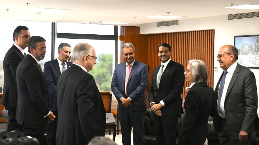
<path fill-rule="evenodd" d="M 131 127 L 133 127 L 134 145 L 144 145 L 145 114 L 146 114 L 146 110 L 143 110 L 143 111 L 132 111 L 130 109 L 119 110 L 123 145 L 131 145 Z"/>

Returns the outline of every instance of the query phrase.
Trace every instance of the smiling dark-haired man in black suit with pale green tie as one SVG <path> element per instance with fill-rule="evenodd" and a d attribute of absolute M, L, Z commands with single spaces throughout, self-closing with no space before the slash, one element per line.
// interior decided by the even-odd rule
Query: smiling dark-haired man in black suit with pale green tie
<path fill-rule="evenodd" d="M 184 67 L 170 59 L 171 46 L 162 43 L 157 48 L 161 65 L 152 75 L 148 89 L 148 101 L 154 113 L 156 142 L 159 145 L 176 144 L 176 125 L 182 112 Z"/>

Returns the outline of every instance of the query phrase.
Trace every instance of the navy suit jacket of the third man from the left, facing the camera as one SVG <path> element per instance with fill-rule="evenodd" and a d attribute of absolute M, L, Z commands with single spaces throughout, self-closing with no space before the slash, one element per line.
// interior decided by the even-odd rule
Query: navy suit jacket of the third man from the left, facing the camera
<path fill-rule="evenodd" d="M 58 58 L 57 58 L 58 59 Z M 44 64 L 44 75 L 46 77 L 48 93 L 49 93 L 49 108 L 51 111 L 56 111 L 57 106 L 57 83 L 60 76 L 60 67 L 58 60 L 50 60 Z M 72 62 L 66 62 L 67 68 L 70 67 Z"/>

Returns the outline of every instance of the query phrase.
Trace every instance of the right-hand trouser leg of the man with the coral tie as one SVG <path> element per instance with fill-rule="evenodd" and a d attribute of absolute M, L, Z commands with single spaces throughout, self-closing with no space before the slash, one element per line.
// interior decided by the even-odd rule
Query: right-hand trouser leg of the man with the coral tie
<path fill-rule="evenodd" d="M 129 110 L 129 119 L 133 127 L 133 142 L 134 145 L 145 144 L 145 122 L 146 110 L 131 111 Z"/>

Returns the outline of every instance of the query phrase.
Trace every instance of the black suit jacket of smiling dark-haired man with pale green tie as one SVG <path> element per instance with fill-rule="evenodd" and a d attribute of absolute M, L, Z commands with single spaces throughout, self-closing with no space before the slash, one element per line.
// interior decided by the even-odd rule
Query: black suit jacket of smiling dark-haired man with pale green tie
<path fill-rule="evenodd" d="M 160 67 L 160 65 L 157 66 L 153 71 L 148 89 L 148 101 L 158 104 L 163 100 L 166 106 L 160 109 L 162 116 L 180 115 L 181 112 L 183 113 L 180 95 L 184 85 L 184 67 L 182 64 L 170 60 L 161 76 L 159 89 L 157 89 L 157 73 Z M 154 112 L 152 114 L 156 116 Z"/>

